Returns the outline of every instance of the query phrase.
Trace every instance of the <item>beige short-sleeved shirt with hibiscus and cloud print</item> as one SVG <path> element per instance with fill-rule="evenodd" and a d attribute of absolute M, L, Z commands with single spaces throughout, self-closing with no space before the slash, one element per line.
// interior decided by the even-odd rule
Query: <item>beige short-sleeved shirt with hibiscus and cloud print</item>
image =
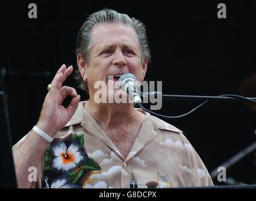
<path fill-rule="evenodd" d="M 84 108 L 54 136 L 32 188 L 170 188 L 211 186 L 199 155 L 175 128 L 148 112 L 127 158 Z M 120 131 L 122 132 L 122 131 Z M 16 151 L 25 138 L 13 146 Z"/>

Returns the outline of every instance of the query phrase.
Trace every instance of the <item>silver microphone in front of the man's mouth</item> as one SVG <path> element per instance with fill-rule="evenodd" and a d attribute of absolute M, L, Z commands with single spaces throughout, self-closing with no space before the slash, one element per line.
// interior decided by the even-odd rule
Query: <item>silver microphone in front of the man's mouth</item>
<path fill-rule="evenodd" d="M 129 95 L 135 107 L 143 104 L 141 100 L 141 93 L 137 87 L 137 78 L 132 73 L 125 73 L 119 78 L 119 89 L 124 90 Z"/>

